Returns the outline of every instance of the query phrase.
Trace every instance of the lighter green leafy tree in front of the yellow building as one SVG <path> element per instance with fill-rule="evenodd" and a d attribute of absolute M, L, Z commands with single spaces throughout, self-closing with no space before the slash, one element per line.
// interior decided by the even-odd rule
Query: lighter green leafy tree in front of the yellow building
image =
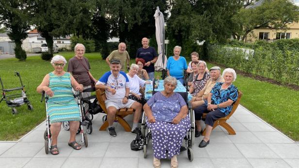
<path fill-rule="evenodd" d="M 288 29 L 288 23 L 299 21 L 299 7 L 291 0 L 260 0 L 260 6 L 241 8 L 234 20 L 239 31 L 234 37 L 244 41 L 249 32 L 259 28 Z"/>

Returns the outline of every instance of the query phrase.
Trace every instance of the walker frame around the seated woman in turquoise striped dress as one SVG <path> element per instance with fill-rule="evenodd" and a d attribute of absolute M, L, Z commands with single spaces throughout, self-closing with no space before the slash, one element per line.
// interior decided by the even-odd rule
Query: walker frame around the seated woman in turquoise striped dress
<path fill-rule="evenodd" d="M 80 92 L 78 91 L 76 95 L 74 95 L 75 97 L 80 99 Z M 48 154 L 51 148 L 51 132 L 50 132 L 50 116 L 48 115 L 48 111 L 47 111 L 47 107 L 48 107 L 48 100 L 49 100 L 49 96 L 43 92 L 42 93 L 42 99 L 41 102 L 45 101 L 45 106 L 46 106 L 46 116 L 47 116 L 47 120 L 46 120 L 46 125 L 47 125 L 47 129 L 44 132 L 44 139 L 45 139 L 45 153 Z M 82 109 L 83 109 L 83 104 L 81 103 L 81 101 L 78 101 L 78 106 L 79 106 L 79 111 L 80 111 L 80 126 L 79 126 L 79 130 L 80 133 L 82 134 L 82 143 L 85 145 L 85 147 L 88 147 L 88 139 L 87 139 L 87 134 L 85 134 L 83 132 L 83 126 L 82 126 Z M 79 131 L 78 130 L 78 131 Z M 78 133 L 77 133 L 78 134 Z"/>

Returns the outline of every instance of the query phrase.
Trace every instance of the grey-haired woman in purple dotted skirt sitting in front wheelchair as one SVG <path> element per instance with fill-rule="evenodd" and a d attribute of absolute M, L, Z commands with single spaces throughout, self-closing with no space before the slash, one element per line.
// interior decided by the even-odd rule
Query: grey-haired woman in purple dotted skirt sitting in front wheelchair
<path fill-rule="evenodd" d="M 171 168 L 178 167 L 177 154 L 191 126 L 185 100 L 173 92 L 176 86 L 175 77 L 166 77 L 164 91 L 155 93 L 144 105 L 146 123 L 152 133 L 155 168 L 160 168 L 160 159 L 167 156 L 171 158 Z"/>

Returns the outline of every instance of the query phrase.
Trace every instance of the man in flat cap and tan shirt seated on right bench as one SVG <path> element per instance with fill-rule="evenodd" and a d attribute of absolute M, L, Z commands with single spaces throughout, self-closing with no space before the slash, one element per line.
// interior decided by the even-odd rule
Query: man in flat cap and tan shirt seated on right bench
<path fill-rule="evenodd" d="M 220 71 L 221 69 L 219 66 L 213 66 L 212 68 L 210 68 L 211 78 L 207 81 L 204 88 L 199 91 L 197 96 L 193 97 L 190 101 L 192 108 L 194 109 L 195 123 L 197 125 L 197 129 L 195 130 L 195 137 L 199 137 L 202 133 L 202 129 L 200 126 L 202 113 L 200 113 L 200 111 L 202 111 L 202 108 L 207 108 L 207 106 L 205 106 L 205 101 L 207 101 L 208 94 L 212 91 L 212 88 L 215 86 L 216 82 L 224 82 L 223 77 L 220 75 Z"/>

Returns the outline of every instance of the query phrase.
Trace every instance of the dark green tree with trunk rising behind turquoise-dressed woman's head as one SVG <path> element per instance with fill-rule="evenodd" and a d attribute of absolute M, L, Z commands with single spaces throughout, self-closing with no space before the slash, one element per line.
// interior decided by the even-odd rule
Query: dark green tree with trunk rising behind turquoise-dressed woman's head
<path fill-rule="evenodd" d="M 91 7 L 89 0 L 32 0 L 33 24 L 46 39 L 50 54 L 53 54 L 53 37 L 88 32 Z"/>

